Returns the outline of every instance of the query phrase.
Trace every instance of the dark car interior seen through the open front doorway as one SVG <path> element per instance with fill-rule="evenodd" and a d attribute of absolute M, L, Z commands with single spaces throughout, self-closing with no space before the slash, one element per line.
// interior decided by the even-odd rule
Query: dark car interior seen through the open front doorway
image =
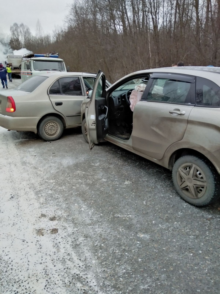
<path fill-rule="evenodd" d="M 147 85 L 149 76 L 136 78 L 123 83 L 109 97 L 109 134 L 128 140 L 133 128 L 133 111 L 130 108 L 130 95 L 136 86 Z"/>

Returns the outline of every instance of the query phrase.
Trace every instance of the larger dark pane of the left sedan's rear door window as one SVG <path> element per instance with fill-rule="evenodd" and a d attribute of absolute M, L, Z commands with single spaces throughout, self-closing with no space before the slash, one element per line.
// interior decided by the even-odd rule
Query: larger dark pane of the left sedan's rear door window
<path fill-rule="evenodd" d="M 62 95 L 82 96 L 82 86 L 79 77 L 66 77 L 59 79 Z"/>

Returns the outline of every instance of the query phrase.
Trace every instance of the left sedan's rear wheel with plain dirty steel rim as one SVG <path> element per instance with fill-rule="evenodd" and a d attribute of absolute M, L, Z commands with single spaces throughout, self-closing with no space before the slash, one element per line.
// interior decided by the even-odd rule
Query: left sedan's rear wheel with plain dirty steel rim
<path fill-rule="evenodd" d="M 45 141 L 55 141 L 63 133 L 63 123 L 56 116 L 46 116 L 38 126 L 38 135 Z"/>

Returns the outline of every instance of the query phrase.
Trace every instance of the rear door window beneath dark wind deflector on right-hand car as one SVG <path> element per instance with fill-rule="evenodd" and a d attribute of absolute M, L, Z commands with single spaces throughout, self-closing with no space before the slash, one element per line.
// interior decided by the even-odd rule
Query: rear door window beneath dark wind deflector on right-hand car
<path fill-rule="evenodd" d="M 185 81 L 170 80 L 165 78 L 154 78 L 150 91 L 144 100 L 187 103 L 191 83 Z"/>

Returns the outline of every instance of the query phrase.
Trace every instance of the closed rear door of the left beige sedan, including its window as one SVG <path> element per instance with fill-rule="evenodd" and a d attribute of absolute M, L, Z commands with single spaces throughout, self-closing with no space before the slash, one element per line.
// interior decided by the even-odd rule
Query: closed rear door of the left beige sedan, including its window
<path fill-rule="evenodd" d="M 48 89 L 48 94 L 53 107 L 62 113 L 68 126 L 81 123 L 81 104 L 85 93 L 79 76 L 57 79 Z"/>

